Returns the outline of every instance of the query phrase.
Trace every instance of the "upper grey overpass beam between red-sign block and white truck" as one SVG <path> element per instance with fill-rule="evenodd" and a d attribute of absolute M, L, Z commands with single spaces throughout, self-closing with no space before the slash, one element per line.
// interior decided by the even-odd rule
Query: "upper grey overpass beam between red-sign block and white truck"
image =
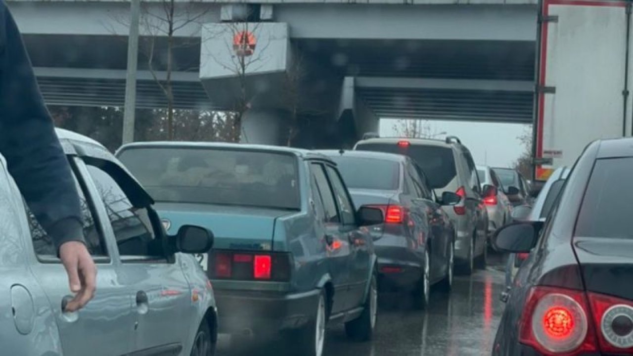
<path fill-rule="evenodd" d="M 535 41 L 537 7 L 283 4 L 275 21 L 289 23 L 296 39 Z"/>

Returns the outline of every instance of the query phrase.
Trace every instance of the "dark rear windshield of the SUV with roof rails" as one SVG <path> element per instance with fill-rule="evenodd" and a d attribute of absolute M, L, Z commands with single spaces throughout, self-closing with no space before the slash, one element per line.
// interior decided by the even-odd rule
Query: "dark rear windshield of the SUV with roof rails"
<path fill-rule="evenodd" d="M 397 143 L 363 143 L 358 144 L 359 151 L 379 151 L 387 153 L 399 153 L 410 156 L 427 175 L 432 189 L 456 190 L 451 185 L 455 181 L 456 170 L 453 149 L 439 146 L 425 146 L 411 144 L 400 147 Z M 456 185 L 456 184 L 452 184 Z"/>

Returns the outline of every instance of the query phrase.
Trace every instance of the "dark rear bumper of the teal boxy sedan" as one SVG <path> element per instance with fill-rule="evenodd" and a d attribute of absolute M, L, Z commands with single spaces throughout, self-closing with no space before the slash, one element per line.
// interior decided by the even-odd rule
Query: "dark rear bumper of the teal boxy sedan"
<path fill-rule="evenodd" d="M 274 334 L 304 326 L 316 312 L 319 289 L 304 293 L 215 287 L 218 332 Z"/>

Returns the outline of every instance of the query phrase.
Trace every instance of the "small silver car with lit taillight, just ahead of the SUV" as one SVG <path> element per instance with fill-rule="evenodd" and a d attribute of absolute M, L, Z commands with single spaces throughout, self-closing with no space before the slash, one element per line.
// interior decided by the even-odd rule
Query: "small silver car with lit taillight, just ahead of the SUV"
<path fill-rule="evenodd" d="M 479 175 L 482 189 L 484 186 L 490 185 L 494 186 L 497 191 L 497 194 L 484 197 L 484 205 L 488 210 L 488 233 L 494 234 L 499 227 L 512 221 L 512 204 L 504 193 L 505 189 L 501 180 L 491 167 L 478 165 L 477 175 Z"/>

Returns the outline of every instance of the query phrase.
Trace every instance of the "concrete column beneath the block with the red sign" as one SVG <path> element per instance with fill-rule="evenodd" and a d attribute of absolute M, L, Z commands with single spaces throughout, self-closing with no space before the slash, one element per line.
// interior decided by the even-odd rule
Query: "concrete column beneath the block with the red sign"
<path fill-rule="evenodd" d="M 284 110 L 251 109 L 242 118 L 241 143 L 285 146 L 289 115 Z"/>

